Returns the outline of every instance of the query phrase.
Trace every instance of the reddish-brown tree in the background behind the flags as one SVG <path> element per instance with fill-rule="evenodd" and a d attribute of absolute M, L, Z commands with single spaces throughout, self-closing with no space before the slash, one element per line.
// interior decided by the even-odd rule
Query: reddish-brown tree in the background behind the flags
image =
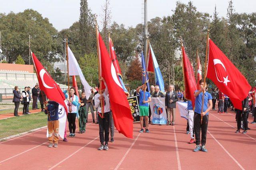
<path fill-rule="evenodd" d="M 127 80 L 142 80 L 142 66 L 138 55 L 134 57 L 131 61 L 130 66 L 128 67 L 128 72 L 126 73 Z"/>

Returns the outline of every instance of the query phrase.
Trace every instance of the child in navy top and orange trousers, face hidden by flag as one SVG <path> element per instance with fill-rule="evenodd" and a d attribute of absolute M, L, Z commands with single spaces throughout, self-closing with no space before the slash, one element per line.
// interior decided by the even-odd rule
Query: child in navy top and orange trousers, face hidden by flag
<path fill-rule="evenodd" d="M 54 148 L 58 147 L 59 141 L 59 104 L 54 101 L 45 101 L 44 104 L 48 104 L 44 109 L 44 113 L 48 115 L 48 132 L 49 132 L 49 148 L 52 148 L 54 143 Z M 54 136 L 52 135 L 54 133 Z"/>

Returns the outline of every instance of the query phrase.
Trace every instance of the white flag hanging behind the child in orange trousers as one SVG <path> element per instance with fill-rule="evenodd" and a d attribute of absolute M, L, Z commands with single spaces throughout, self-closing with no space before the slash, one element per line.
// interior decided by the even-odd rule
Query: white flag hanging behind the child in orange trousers
<path fill-rule="evenodd" d="M 65 127 L 66 127 L 67 115 L 66 115 L 66 111 L 65 111 L 64 107 L 61 104 L 59 104 L 58 113 L 59 113 L 59 135 L 63 139 L 64 138 Z M 46 137 L 49 137 L 48 129 L 47 129 Z"/>

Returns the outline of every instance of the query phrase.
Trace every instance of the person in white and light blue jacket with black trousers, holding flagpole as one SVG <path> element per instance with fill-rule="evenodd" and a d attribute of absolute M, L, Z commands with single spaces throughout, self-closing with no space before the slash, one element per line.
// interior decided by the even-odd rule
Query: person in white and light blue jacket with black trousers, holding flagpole
<path fill-rule="evenodd" d="M 69 90 L 69 93 L 66 92 Z M 75 137 L 76 131 L 76 115 L 78 114 L 78 96 L 76 96 L 75 88 L 71 87 L 68 90 L 64 90 L 64 95 L 66 100 L 68 100 L 66 106 L 68 108 L 68 128 L 70 131 L 70 135 L 68 137 Z"/>

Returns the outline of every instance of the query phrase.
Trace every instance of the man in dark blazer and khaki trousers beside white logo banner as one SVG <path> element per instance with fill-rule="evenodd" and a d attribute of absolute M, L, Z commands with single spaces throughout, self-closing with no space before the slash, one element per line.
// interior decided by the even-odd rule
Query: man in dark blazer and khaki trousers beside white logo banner
<path fill-rule="evenodd" d="M 175 109 L 176 102 L 178 101 L 178 94 L 174 91 L 174 85 L 169 86 L 169 91 L 165 95 L 165 108 L 167 109 L 167 125 L 173 125 L 175 122 Z M 171 114 L 172 114 L 172 123 L 171 123 Z"/>

